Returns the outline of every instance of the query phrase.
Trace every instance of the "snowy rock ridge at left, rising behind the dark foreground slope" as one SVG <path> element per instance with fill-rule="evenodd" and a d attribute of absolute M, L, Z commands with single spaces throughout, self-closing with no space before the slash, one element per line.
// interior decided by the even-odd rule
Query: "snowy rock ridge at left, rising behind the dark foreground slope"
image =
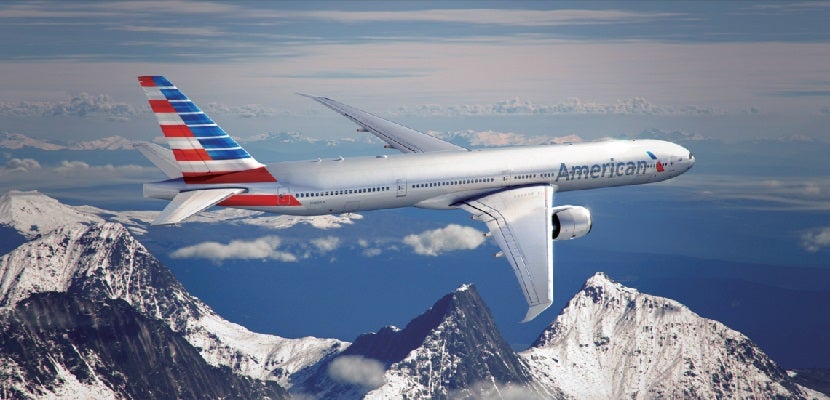
<path fill-rule="evenodd" d="M 292 373 L 344 347 L 334 339 L 257 334 L 222 319 L 112 222 L 61 226 L 0 258 L 0 307 L 46 291 L 123 299 L 183 334 L 211 365 L 285 387 Z"/>

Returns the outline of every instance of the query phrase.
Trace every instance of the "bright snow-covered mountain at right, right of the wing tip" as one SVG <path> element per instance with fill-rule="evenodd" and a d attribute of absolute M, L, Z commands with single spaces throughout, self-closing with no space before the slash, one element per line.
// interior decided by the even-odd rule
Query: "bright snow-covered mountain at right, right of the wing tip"
<path fill-rule="evenodd" d="M 538 382 L 578 399 L 806 395 L 743 334 L 602 273 L 521 355 Z"/>

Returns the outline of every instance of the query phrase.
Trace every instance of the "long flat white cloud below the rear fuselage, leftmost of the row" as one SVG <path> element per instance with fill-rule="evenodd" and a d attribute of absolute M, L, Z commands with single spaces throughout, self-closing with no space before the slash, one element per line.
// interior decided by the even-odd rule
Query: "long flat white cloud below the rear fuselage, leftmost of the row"
<path fill-rule="evenodd" d="M 295 262 L 297 257 L 279 250 L 282 243 L 278 236 L 264 236 L 252 241 L 233 240 L 228 244 L 203 242 L 183 247 L 171 253 L 173 258 L 205 258 L 213 261 L 226 259 L 273 259 Z"/>

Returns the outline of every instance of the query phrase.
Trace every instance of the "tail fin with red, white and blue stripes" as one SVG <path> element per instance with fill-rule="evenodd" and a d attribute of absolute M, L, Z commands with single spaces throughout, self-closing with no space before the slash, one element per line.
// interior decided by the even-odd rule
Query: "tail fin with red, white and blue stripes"
<path fill-rule="evenodd" d="M 222 128 L 163 76 L 139 76 L 182 178 L 189 184 L 276 182 Z"/>

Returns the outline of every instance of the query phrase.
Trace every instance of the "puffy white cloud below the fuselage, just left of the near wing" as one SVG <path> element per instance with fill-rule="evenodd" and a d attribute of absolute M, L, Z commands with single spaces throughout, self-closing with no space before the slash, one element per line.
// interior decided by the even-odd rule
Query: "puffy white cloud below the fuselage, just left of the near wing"
<path fill-rule="evenodd" d="M 484 234 L 477 229 L 456 224 L 444 228 L 408 235 L 403 243 L 416 254 L 437 256 L 453 250 L 472 250 L 484 243 Z"/>

